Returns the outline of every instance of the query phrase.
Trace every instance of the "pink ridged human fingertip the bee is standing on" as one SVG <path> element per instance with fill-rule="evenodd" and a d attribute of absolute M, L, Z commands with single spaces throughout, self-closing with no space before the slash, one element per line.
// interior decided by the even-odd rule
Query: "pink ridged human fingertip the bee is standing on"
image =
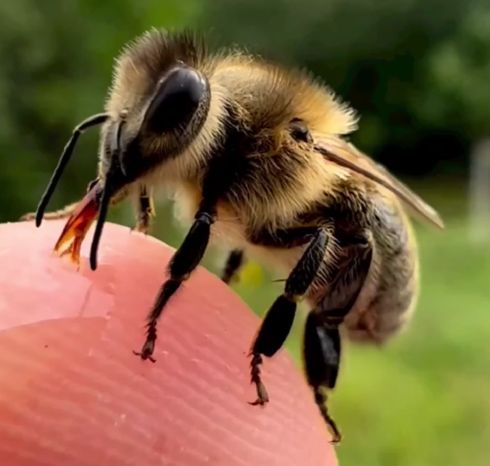
<path fill-rule="evenodd" d="M 3 466 L 337 464 L 285 351 L 264 365 L 271 402 L 247 403 L 259 320 L 226 285 L 198 268 L 160 321 L 156 364 L 141 361 L 173 250 L 108 223 L 98 269 L 87 244 L 77 272 L 51 253 L 62 227 L 0 225 Z"/>

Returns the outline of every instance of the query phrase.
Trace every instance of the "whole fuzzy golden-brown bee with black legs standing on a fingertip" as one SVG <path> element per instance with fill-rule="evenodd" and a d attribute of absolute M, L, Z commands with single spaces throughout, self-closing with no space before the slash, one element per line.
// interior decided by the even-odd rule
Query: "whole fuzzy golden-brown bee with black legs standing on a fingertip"
<path fill-rule="evenodd" d="M 407 212 L 442 228 L 437 212 L 349 143 L 356 113 L 309 74 L 237 49 L 209 53 L 189 32 L 152 30 L 117 59 L 104 112 L 75 128 L 39 203 L 37 226 L 77 139 L 95 126 L 97 178 L 81 202 L 47 215 L 69 216 L 55 249 L 78 261 L 97 220 L 95 269 L 109 206 L 135 199 L 136 228 L 146 232 L 154 187 L 171 190 L 178 216 L 191 224 L 135 354 L 154 361 L 157 321 L 209 243 L 231 251 L 226 282 L 246 258 L 257 258 L 287 279 L 251 346 L 252 404 L 269 401 L 264 357 L 283 346 L 304 300 L 306 379 L 339 441 L 327 394 L 336 385 L 341 341 L 385 342 L 407 323 L 419 286 Z"/>

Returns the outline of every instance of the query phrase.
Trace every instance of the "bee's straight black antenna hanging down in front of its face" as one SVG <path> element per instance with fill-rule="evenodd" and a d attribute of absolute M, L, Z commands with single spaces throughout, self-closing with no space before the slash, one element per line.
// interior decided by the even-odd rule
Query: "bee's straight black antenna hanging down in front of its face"
<path fill-rule="evenodd" d="M 99 243 L 100 238 L 102 237 L 104 223 L 107 218 L 109 203 L 111 202 L 111 196 L 113 194 L 113 178 L 119 163 L 121 152 L 121 130 L 124 123 L 124 120 L 120 120 L 118 122 L 116 131 L 114 131 L 113 133 L 113 140 L 111 141 L 111 162 L 106 174 L 104 190 L 102 191 L 102 195 L 100 198 L 97 224 L 95 225 L 94 236 L 92 238 L 92 244 L 90 246 L 90 268 L 92 270 L 95 270 L 97 268 L 97 251 L 99 249 Z"/>

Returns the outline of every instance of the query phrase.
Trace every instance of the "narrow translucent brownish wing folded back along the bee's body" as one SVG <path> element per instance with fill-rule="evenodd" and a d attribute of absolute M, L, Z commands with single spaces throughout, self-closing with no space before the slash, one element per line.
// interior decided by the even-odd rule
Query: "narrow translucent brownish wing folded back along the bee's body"
<path fill-rule="evenodd" d="M 386 168 L 359 151 L 354 145 L 335 136 L 322 136 L 315 140 L 315 150 L 331 162 L 384 186 L 424 220 L 438 228 L 444 228 L 441 217 L 429 204 L 395 178 Z"/>

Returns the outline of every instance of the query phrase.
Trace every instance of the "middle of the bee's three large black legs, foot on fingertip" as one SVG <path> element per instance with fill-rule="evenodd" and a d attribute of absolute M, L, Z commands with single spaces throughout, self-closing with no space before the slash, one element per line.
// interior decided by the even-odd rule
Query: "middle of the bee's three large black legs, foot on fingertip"
<path fill-rule="evenodd" d="M 267 390 L 260 377 L 262 355 L 273 356 L 286 340 L 293 325 L 296 303 L 313 282 L 322 264 L 327 243 L 327 231 L 323 228 L 318 229 L 303 256 L 289 274 L 284 293 L 272 304 L 262 321 L 251 351 L 251 382 L 257 388 L 257 400 L 252 403 L 253 405 L 263 405 L 269 401 Z"/>

